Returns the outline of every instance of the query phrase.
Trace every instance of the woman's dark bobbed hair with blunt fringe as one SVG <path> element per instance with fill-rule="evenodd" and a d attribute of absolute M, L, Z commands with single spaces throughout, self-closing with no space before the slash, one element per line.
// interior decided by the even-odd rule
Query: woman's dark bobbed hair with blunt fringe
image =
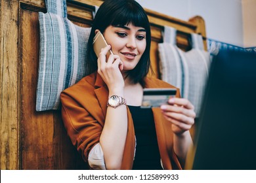
<path fill-rule="evenodd" d="M 109 25 L 127 25 L 133 24 L 137 27 L 146 29 L 146 49 L 140 58 L 137 66 L 129 71 L 129 78 L 134 83 L 142 82 L 148 74 L 150 68 L 150 44 L 151 33 L 148 16 L 144 9 L 134 0 L 106 0 L 96 12 L 91 34 L 88 41 L 87 52 L 87 73 L 93 73 L 97 70 L 97 58 L 93 50 L 93 37 L 95 30 L 99 29 L 104 33 Z"/>

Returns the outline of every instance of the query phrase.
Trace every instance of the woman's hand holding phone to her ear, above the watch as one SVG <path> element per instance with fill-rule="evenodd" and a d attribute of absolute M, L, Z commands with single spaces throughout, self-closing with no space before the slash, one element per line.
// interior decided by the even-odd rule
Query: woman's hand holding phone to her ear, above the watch
<path fill-rule="evenodd" d="M 106 58 L 108 50 L 111 46 L 108 45 L 102 48 L 98 57 L 98 74 L 102 77 L 108 90 L 115 92 L 123 90 L 125 83 L 121 71 L 123 70 L 123 62 L 119 56 L 111 54 Z"/>

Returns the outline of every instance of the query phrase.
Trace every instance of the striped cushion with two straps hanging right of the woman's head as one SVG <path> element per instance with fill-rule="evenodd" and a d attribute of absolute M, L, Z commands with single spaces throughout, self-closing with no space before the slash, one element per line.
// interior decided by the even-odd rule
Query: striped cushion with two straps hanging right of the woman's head
<path fill-rule="evenodd" d="M 188 52 L 177 47 L 176 35 L 176 29 L 165 27 L 163 43 L 158 44 L 161 79 L 177 86 L 181 97 L 194 105 L 198 116 L 210 65 L 210 54 L 203 50 L 201 35 L 191 34 L 192 50 Z"/>

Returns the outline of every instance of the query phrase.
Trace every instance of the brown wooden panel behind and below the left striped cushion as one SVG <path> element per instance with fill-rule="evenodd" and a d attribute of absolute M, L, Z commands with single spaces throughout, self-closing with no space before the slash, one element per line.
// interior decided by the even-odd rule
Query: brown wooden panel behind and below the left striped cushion
<path fill-rule="evenodd" d="M 85 169 L 66 135 L 60 110 L 35 111 L 39 60 L 38 13 L 21 13 L 21 169 Z M 78 161 L 79 160 L 79 161 Z"/>

